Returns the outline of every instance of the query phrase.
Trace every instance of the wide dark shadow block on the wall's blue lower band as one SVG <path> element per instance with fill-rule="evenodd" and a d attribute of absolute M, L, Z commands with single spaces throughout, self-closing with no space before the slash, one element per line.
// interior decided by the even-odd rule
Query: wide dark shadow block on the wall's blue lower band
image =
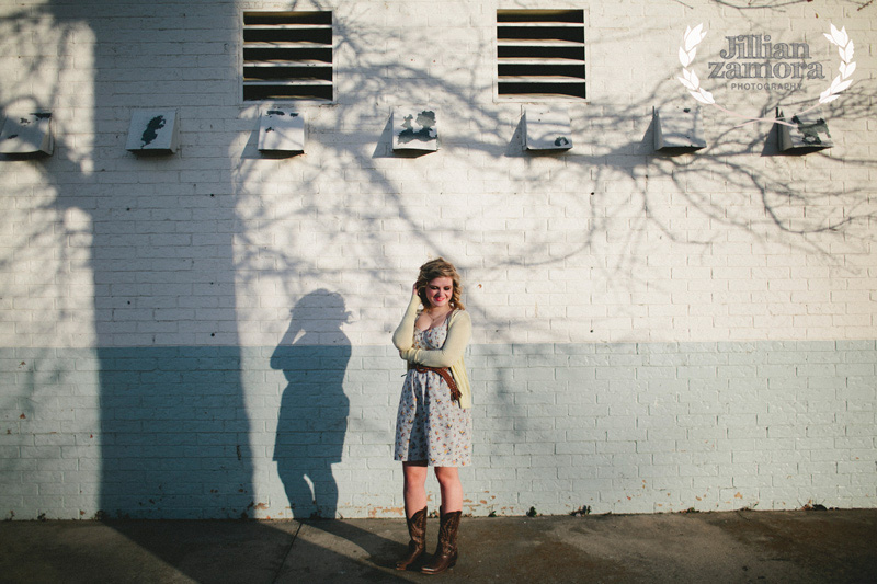
<path fill-rule="evenodd" d="M 98 357 L 104 516 L 249 516 L 239 347 L 100 347 Z"/>

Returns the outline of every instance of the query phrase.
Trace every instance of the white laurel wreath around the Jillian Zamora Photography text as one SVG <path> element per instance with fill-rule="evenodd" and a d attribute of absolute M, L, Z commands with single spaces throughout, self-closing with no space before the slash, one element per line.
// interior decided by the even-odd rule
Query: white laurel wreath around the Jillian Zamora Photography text
<path fill-rule="evenodd" d="M 812 107 L 809 107 L 804 112 L 800 112 L 800 114 L 810 112 L 811 110 L 819 107 L 823 103 L 829 103 L 836 100 L 838 98 L 840 98 L 841 92 L 853 83 L 853 80 L 850 78 L 856 70 L 856 64 L 853 60 L 853 55 L 855 49 L 853 45 L 853 39 L 850 38 L 850 35 L 846 34 L 846 27 L 844 26 L 839 31 L 838 27 L 834 26 L 834 24 L 832 23 L 831 34 L 829 33 L 823 33 L 823 34 L 832 45 L 835 45 L 838 47 L 838 51 L 841 55 L 841 65 L 839 67 L 839 73 L 831 81 L 831 84 L 828 87 L 828 89 L 819 94 L 819 102 Z M 753 124 L 755 122 L 771 122 L 773 124 L 784 124 L 786 126 L 795 127 L 795 124 L 789 124 L 787 122 L 783 122 L 779 119 L 774 119 L 768 117 L 751 117 L 743 114 L 738 114 L 737 112 L 726 110 L 725 107 L 717 104 L 716 99 L 713 98 L 713 94 L 701 87 L 701 79 L 697 77 L 697 73 L 694 71 L 694 68 L 692 68 L 691 70 L 688 69 L 688 66 L 691 66 L 694 62 L 695 55 L 697 55 L 697 45 L 699 45 L 704 38 L 706 38 L 706 31 L 704 31 L 703 23 L 698 24 L 694 28 L 692 28 L 691 26 L 686 26 L 685 34 L 682 37 L 682 46 L 679 47 L 679 61 L 682 64 L 682 77 L 677 77 L 676 79 L 679 79 L 680 83 L 682 83 L 685 87 L 685 89 L 688 90 L 688 93 L 692 94 L 692 98 L 694 98 L 695 100 L 705 105 L 711 105 L 714 107 L 717 107 L 718 110 L 721 110 L 726 114 L 749 121 L 743 124 L 740 124 L 740 126 L 745 126 L 748 124 Z"/>

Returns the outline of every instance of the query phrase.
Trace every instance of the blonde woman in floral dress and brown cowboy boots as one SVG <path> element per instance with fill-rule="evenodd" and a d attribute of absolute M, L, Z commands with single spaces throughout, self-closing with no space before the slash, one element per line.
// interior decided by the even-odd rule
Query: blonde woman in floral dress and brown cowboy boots
<path fill-rule="evenodd" d="M 471 391 L 463 352 L 471 319 L 460 301 L 459 274 L 438 257 L 420 274 L 392 344 L 408 362 L 396 420 L 396 460 L 402 461 L 409 553 L 406 570 L 423 553 L 426 538 L 426 473 L 435 468 L 442 492 L 438 546 L 421 572 L 438 574 L 457 561 L 463 485 L 457 467 L 471 461 Z M 423 310 L 419 310 L 423 305 Z"/>

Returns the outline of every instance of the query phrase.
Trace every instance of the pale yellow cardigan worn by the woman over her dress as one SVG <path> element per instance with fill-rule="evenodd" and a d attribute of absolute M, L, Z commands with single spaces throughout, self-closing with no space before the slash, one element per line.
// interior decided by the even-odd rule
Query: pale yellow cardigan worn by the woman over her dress
<path fill-rule="evenodd" d="M 399 350 L 400 356 L 408 363 L 425 365 L 426 367 L 451 367 L 454 380 L 459 388 L 462 408 L 472 406 L 472 390 L 469 387 L 469 376 L 466 375 L 466 364 L 463 353 L 472 335 L 472 320 L 465 310 L 454 310 L 447 320 L 447 337 L 442 348 L 425 350 L 412 348 L 414 342 L 414 322 L 418 318 L 420 298 L 411 296 L 411 301 L 405 311 L 402 321 L 392 333 L 392 344 Z"/>

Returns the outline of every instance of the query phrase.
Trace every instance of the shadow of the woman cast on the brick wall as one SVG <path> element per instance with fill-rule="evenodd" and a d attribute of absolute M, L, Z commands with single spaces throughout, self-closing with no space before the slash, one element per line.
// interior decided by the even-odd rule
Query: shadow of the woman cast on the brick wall
<path fill-rule="evenodd" d="M 350 400 L 344 373 L 351 344 L 341 330 L 350 313 L 341 295 L 319 289 L 292 311 L 286 334 L 271 356 L 288 385 L 281 399 L 274 460 L 296 519 L 334 518 Z"/>

